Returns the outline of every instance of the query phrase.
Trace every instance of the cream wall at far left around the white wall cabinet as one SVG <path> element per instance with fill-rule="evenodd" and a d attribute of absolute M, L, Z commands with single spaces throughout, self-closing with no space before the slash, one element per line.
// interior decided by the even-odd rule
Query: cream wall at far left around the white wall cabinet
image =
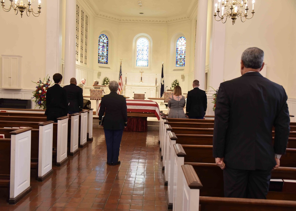
<path fill-rule="evenodd" d="M 7 5 L 10 2 L 6 2 Z M 32 3 L 37 10 L 38 1 Z M 45 77 L 45 38 L 46 38 L 46 2 L 41 3 L 41 14 L 39 17 L 27 17 L 20 12 L 15 15 L 14 10 L 0 11 L 0 57 L 1 55 L 22 56 L 21 84 L 25 90 L 32 90 L 39 78 Z M 0 68 L 2 57 L 0 58 Z M 1 87 L 1 86 L 0 86 Z M 19 91 L 17 91 L 19 92 Z"/>

